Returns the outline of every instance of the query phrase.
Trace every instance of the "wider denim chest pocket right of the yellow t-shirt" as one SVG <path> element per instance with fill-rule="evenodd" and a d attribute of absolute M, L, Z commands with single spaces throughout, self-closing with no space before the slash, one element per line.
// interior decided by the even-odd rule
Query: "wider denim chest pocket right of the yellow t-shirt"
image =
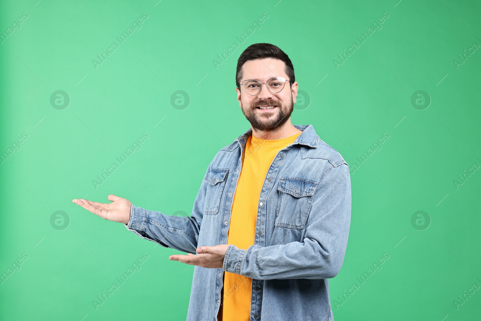
<path fill-rule="evenodd" d="M 311 210 L 317 182 L 281 177 L 278 186 L 275 226 L 302 230 Z"/>

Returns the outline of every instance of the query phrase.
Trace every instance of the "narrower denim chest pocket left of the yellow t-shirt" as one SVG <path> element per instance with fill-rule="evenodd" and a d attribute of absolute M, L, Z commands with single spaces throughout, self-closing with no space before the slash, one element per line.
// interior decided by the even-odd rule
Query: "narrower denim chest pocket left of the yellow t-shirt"
<path fill-rule="evenodd" d="M 227 181 L 228 168 L 212 168 L 204 177 L 209 183 L 205 191 L 204 214 L 215 215 L 219 211 L 220 198 Z"/>

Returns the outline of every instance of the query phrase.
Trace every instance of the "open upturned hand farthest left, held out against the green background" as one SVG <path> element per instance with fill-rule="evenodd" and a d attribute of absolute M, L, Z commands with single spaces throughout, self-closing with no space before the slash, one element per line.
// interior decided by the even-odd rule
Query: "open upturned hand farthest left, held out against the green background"
<path fill-rule="evenodd" d="M 97 202 L 90 202 L 86 199 L 74 199 L 72 202 L 82 206 L 86 210 L 89 210 L 101 218 L 128 224 L 128 221 L 130 220 L 130 207 L 132 203 L 125 198 L 115 195 L 109 195 L 107 198 L 113 203 L 101 204 Z"/>

